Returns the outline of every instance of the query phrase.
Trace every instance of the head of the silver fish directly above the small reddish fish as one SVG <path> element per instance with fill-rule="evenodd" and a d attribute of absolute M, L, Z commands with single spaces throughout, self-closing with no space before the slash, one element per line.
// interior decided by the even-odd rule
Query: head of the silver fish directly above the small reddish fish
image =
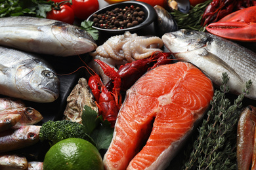
<path fill-rule="evenodd" d="M 15 80 L 22 99 L 28 101 L 53 102 L 60 93 L 58 76 L 40 59 L 25 60 L 16 70 Z"/>

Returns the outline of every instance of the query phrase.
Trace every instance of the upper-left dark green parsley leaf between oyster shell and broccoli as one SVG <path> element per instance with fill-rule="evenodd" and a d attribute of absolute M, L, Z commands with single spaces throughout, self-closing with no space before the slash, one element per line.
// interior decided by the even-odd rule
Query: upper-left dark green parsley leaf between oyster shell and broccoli
<path fill-rule="evenodd" d="M 91 135 L 93 130 L 102 121 L 102 116 L 98 116 L 97 112 L 87 105 L 85 105 L 85 107 L 83 108 L 83 114 L 81 118 L 82 124 L 85 127 L 85 133 L 87 133 L 88 135 Z"/>

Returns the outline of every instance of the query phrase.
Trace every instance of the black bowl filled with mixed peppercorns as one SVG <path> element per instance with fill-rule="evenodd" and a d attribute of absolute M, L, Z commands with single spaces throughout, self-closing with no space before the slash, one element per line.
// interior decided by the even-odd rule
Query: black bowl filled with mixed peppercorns
<path fill-rule="evenodd" d="M 124 1 L 97 10 L 87 21 L 92 21 L 98 31 L 123 33 L 146 27 L 156 18 L 156 10 L 148 3 Z"/>

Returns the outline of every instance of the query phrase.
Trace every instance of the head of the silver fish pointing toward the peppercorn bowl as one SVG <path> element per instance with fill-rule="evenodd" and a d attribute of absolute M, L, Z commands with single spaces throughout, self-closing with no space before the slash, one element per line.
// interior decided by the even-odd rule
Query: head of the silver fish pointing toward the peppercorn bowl
<path fill-rule="evenodd" d="M 85 54 L 97 48 L 95 40 L 85 29 L 63 22 L 56 22 L 52 30 L 56 39 L 67 49 L 60 52 L 58 56 Z M 70 44 L 72 44 L 72 46 L 70 46 Z M 68 49 L 71 50 L 69 51 Z"/>

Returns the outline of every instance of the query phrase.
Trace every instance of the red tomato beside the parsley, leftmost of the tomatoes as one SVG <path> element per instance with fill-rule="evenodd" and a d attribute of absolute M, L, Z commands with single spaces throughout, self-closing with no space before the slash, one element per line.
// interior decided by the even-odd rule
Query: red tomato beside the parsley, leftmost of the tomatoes
<path fill-rule="evenodd" d="M 59 10 L 52 9 L 50 12 L 47 12 L 46 18 L 73 24 L 75 20 L 75 14 L 72 8 L 68 5 L 61 5 Z"/>

